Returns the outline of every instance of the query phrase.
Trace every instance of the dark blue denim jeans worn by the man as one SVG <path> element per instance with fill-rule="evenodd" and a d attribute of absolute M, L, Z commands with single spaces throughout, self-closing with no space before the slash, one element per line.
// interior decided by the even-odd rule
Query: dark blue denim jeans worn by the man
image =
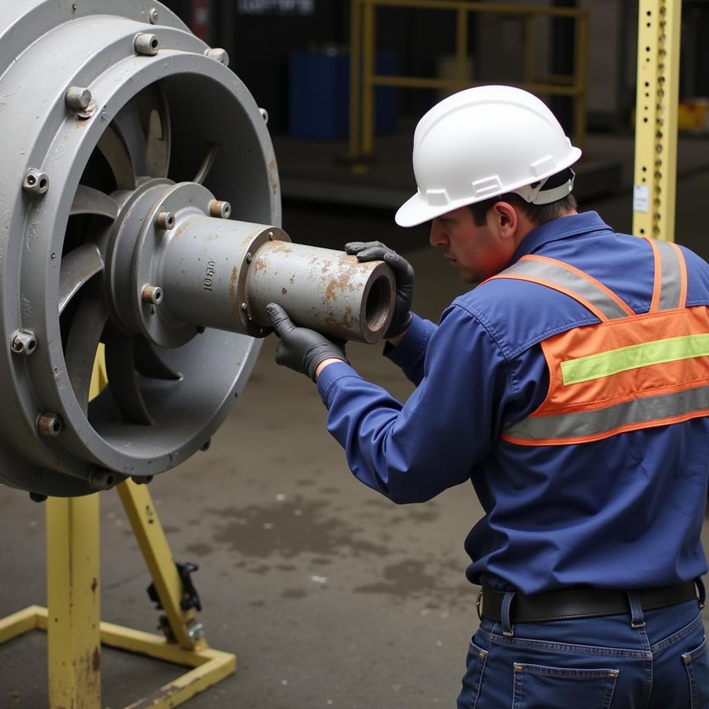
<path fill-rule="evenodd" d="M 709 657 L 696 601 L 601 618 L 484 618 L 458 709 L 708 709 Z M 635 627 L 633 627 L 635 626 Z"/>

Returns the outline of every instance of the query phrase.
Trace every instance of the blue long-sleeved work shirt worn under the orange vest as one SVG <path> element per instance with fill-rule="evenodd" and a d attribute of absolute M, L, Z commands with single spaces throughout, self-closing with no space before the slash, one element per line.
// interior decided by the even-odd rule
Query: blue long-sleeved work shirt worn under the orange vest
<path fill-rule="evenodd" d="M 687 306 L 709 305 L 709 265 L 682 249 Z M 636 312 L 649 310 L 649 244 L 616 234 L 595 212 L 532 230 L 526 254 L 569 263 Z M 535 411 L 549 376 L 540 342 L 596 323 L 565 294 L 527 281 L 489 281 L 456 298 L 438 325 L 414 317 L 387 356 L 416 385 L 406 403 L 348 364 L 318 390 L 350 469 L 396 503 L 423 502 L 471 481 L 484 517 L 465 541 L 474 584 L 538 593 L 571 586 L 647 588 L 707 570 L 700 533 L 709 418 L 577 445 L 520 446 L 503 425 Z"/>

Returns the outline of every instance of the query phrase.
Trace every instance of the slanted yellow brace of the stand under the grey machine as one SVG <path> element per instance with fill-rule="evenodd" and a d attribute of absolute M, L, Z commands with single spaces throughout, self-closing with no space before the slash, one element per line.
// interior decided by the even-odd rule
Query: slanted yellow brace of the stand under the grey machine
<path fill-rule="evenodd" d="M 126 480 L 116 485 L 116 490 L 121 496 L 123 508 L 133 527 L 133 534 L 145 558 L 175 640 L 184 649 L 207 647 L 205 640 L 190 636 L 189 624 L 194 621 L 195 613 L 194 610 L 182 610 L 180 606 L 182 579 L 172 559 L 167 537 L 155 513 L 147 485 L 136 485 Z"/>

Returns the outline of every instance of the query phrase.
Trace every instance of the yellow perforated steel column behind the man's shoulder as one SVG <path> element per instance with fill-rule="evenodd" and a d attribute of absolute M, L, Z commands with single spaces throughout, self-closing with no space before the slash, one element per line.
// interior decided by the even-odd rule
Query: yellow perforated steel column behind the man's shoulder
<path fill-rule="evenodd" d="M 632 233 L 674 241 L 681 2 L 640 0 Z"/>

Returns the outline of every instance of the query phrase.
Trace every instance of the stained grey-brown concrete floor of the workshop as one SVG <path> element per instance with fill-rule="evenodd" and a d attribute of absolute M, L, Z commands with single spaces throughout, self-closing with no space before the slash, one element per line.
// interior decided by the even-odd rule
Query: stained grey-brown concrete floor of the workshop
<path fill-rule="evenodd" d="M 697 145 L 687 149 L 697 169 L 679 183 L 677 240 L 707 256 L 709 174 L 698 155 L 709 149 Z M 630 229 L 629 193 L 583 207 Z M 423 316 L 437 318 L 464 288 L 427 247 L 425 228 L 398 229 L 390 213 L 286 204 L 284 227 L 298 241 L 337 247 L 378 238 L 406 252 Z M 264 342 L 211 449 L 150 486 L 174 557 L 200 564 L 194 580 L 208 642 L 238 656 L 234 676 L 186 706 L 452 708 L 477 625 L 462 542 L 479 504 L 467 486 L 406 507 L 364 488 L 325 432 L 313 385 L 274 364 L 274 344 Z M 410 386 L 378 346 L 350 345 L 348 352 L 363 376 L 408 396 Z M 150 579 L 116 493 L 101 495 L 101 545 L 102 618 L 154 630 Z M 0 579 L 0 617 L 45 603 L 44 508 L 4 487 Z M 128 705 L 180 674 L 110 650 L 102 668 L 104 709 Z M 46 705 L 43 633 L 0 647 L 0 709 Z"/>

